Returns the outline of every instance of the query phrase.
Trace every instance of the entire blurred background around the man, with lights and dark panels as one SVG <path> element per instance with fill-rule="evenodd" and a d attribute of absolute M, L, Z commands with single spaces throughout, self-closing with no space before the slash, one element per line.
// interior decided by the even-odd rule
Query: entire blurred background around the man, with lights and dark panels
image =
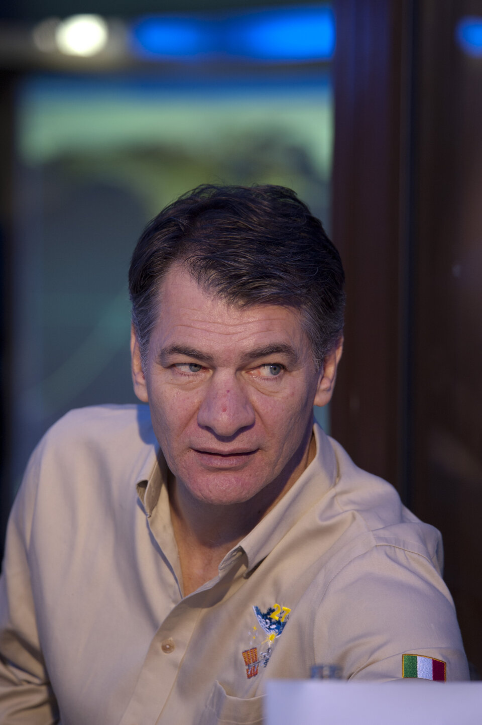
<path fill-rule="evenodd" d="M 46 428 L 135 401 L 145 223 L 199 183 L 283 184 L 346 269 L 316 415 L 441 529 L 478 678 L 482 0 L 4 0 L 0 154 L 1 542 Z"/>

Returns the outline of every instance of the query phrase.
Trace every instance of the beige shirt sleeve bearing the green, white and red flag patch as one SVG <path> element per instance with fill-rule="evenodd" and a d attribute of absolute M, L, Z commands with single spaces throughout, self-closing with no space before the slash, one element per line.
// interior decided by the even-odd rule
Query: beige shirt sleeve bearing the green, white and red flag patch
<path fill-rule="evenodd" d="M 375 545 L 333 576 L 314 634 L 317 662 L 341 666 L 345 679 L 401 679 L 403 655 L 445 663 L 447 680 L 469 679 L 444 581 L 429 558 L 394 545 Z"/>

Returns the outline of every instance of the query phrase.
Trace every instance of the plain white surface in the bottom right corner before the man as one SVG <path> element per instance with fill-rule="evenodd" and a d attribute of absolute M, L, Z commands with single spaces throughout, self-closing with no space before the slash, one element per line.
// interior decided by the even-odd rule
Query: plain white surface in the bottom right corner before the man
<path fill-rule="evenodd" d="M 482 682 L 271 680 L 266 725 L 481 725 Z"/>

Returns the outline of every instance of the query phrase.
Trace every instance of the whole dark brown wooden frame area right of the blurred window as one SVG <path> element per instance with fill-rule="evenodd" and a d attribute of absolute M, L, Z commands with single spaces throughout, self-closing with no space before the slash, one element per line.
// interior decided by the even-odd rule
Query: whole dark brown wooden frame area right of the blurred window
<path fill-rule="evenodd" d="M 455 41 L 480 0 L 335 0 L 333 240 L 346 352 L 332 431 L 444 537 L 482 674 L 481 59 Z"/>

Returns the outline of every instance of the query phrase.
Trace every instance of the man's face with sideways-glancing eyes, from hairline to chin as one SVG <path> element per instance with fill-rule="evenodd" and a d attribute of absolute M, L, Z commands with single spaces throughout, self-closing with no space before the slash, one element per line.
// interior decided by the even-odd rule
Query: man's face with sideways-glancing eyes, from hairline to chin
<path fill-rule="evenodd" d="M 162 283 L 144 371 L 133 336 L 133 379 L 176 481 L 217 505 L 298 478 L 313 402 L 328 402 L 333 383 L 315 368 L 296 310 L 236 309 L 180 266 Z"/>

